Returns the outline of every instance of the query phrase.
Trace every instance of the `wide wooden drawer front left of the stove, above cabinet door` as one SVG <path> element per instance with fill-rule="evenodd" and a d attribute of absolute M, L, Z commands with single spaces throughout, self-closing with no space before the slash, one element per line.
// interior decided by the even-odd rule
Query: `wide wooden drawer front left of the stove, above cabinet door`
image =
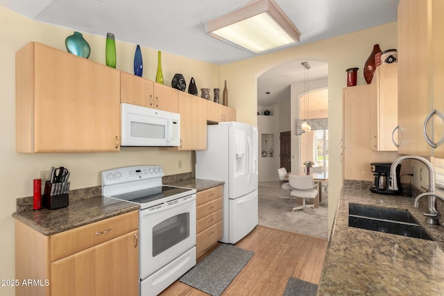
<path fill-rule="evenodd" d="M 51 236 L 51 262 L 139 228 L 139 211 L 70 229 Z"/>

